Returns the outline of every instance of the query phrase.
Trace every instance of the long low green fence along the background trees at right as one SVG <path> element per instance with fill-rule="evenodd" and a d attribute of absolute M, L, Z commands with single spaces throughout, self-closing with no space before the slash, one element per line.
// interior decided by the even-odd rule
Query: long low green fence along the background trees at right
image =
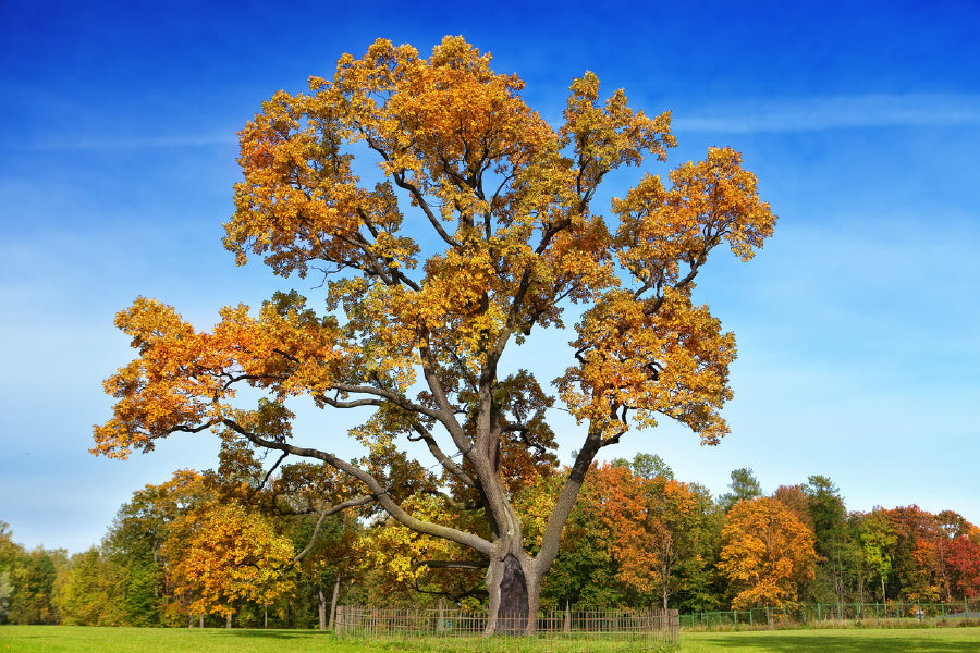
<path fill-rule="evenodd" d="M 874 626 L 885 620 L 980 619 L 980 601 L 961 603 L 814 603 L 794 607 L 755 607 L 681 615 L 685 628 L 782 626 L 823 621 L 860 621 Z"/>

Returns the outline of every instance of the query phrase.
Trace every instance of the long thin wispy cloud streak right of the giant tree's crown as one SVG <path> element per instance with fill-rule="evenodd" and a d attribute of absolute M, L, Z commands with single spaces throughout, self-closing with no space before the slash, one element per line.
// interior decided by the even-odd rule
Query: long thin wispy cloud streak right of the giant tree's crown
<path fill-rule="evenodd" d="M 675 111 L 687 132 L 805 132 L 852 127 L 980 125 L 980 96 L 859 95 L 743 101 L 706 112 Z"/>

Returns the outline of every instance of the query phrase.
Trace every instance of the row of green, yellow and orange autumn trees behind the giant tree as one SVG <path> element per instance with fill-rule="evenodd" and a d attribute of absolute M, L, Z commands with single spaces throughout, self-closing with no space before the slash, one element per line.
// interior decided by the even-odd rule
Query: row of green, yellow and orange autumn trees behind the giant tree
<path fill-rule="evenodd" d="M 513 488 L 529 551 L 563 473 Z M 330 477 L 307 463 L 264 472 L 230 443 L 218 470 L 180 470 L 134 492 L 88 551 L 27 551 L 0 522 L 0 623 L 328 628 L 336 601 L 486 607 L 486 563 L 464 547 L 370 506 L 315 509 Z M 848 512 L 824 476 L 764 494 L 751 469 L 738 469 L 730 490 L 715 497 L 679 481 L 659 456 L 597 465 L 541 607 L 690 613 L 980 597 L 980 529 L 953 510 Z M 400 501 L 419 518 L 473 520 L 464 506 L 451 514 L 433 488 Z"/>

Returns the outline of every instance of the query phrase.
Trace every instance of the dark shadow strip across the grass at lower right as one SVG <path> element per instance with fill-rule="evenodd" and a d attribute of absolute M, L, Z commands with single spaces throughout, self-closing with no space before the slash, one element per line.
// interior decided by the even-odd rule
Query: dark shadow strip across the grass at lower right
<path fill-rule="evenodd" d="M 682 638 L 683 642 L 683 638 Z M 740 633 L 712 638 L 725 651 L 793 651 L 793 653 L 977 653 L 978 642 L 905 636 L 902 638 L 854 637 L 800 638 L 792 634 Z"/>

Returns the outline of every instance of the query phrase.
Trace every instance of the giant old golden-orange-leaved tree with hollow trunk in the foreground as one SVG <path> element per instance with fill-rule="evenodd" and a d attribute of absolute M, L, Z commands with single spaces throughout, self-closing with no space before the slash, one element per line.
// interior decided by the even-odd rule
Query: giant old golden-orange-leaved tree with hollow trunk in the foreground
<path fill-rule="evenodd" d="M 257 313 L 224 308 L 203 332 L 137 299 L 117 324 L 138 357 L 106 382 L 117 403 L 94 451 L 125 457 L 172 433 L 219 430 L 321 460 L 359 488 L 347 505 L 371 504 L 483 560 L 488 632 L 534 631 L 597 453 L 659 416 L 708 444 L 726 433 L 735 340 L 695 304 L 694 280 L 715 247 L 751 258 L 775 217 L 740 156 L 712 148 L 669 186 L 642 176 L 612 202 L 610 229 L 592 206 L 600 184 L 645 157 L 665 160 L 670 114 L 635 111 L 622 90 L 601 101 L 586 73 L 553 127 L 523 86 L 446 37 L 428 59 L 378 40 L 308 93 L 275 94 L 241 132 L 244 181 L 224 245 L 238 263 L 260 256 L 283 276 L 322 274 L 326 310 L 282 293 Z M 377 183 L 358 176 L 371 161 Z M 573 326 L 563 313 L 574 304 L 584 312 Z M 534 370 L 499 373 L 509 347 L 548 328 L 572 338 L 553 394 Z M 246 408 L 242 385 L 267 396 Z M 286 402 L 299 395 L 327 411 L 372 410 L 350 433 L 367 455 L 336 456 L 343 433 L 329 419 L 320 445 L 296 445 Z M 512 500 L 522 475 L 556 465 L 555 402 L 583 440 L 531 555 Z M 424 443 L 442 478 L 406 455 L 405 439 Z M 403 506 L 419 492 L 454 504 L 438 514 L 469 515 L 426 519 Z M 479 528 L 466 527 L 473 516 Z"/>

